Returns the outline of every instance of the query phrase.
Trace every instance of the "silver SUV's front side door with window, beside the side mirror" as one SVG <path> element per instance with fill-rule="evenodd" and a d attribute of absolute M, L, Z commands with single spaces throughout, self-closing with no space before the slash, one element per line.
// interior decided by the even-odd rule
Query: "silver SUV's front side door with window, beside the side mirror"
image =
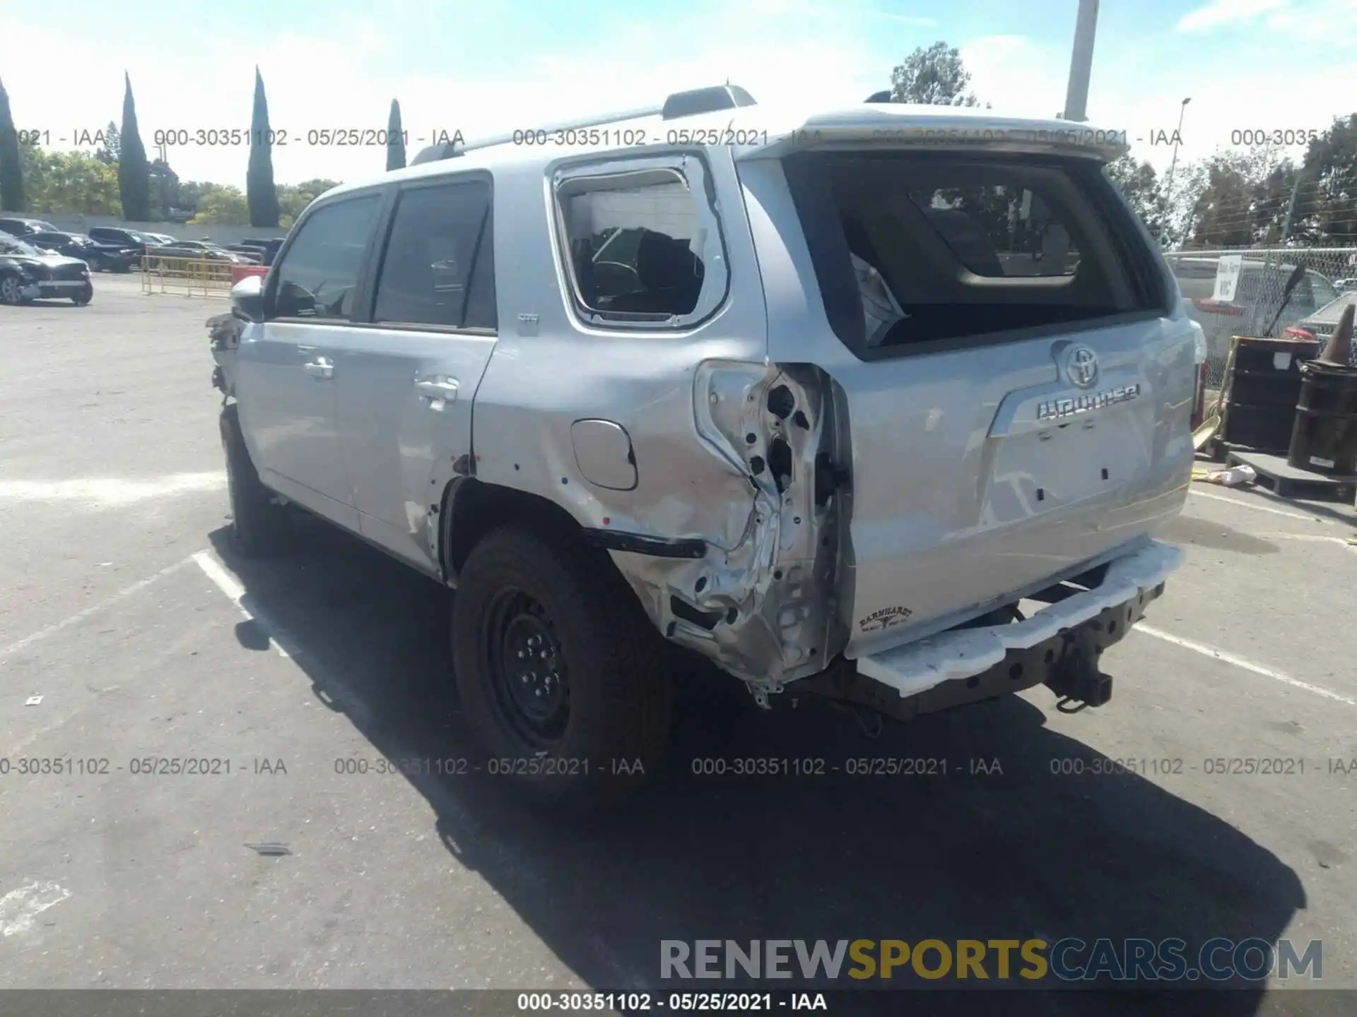
<path fill-rule="evenodd" d="M 303 220 L 269 277 L 265 321 L 244 330 L 236 357 L 240 426 L 263 481 L 353 530 L 335 389 L 379 202 L 332 201 Z"/>

